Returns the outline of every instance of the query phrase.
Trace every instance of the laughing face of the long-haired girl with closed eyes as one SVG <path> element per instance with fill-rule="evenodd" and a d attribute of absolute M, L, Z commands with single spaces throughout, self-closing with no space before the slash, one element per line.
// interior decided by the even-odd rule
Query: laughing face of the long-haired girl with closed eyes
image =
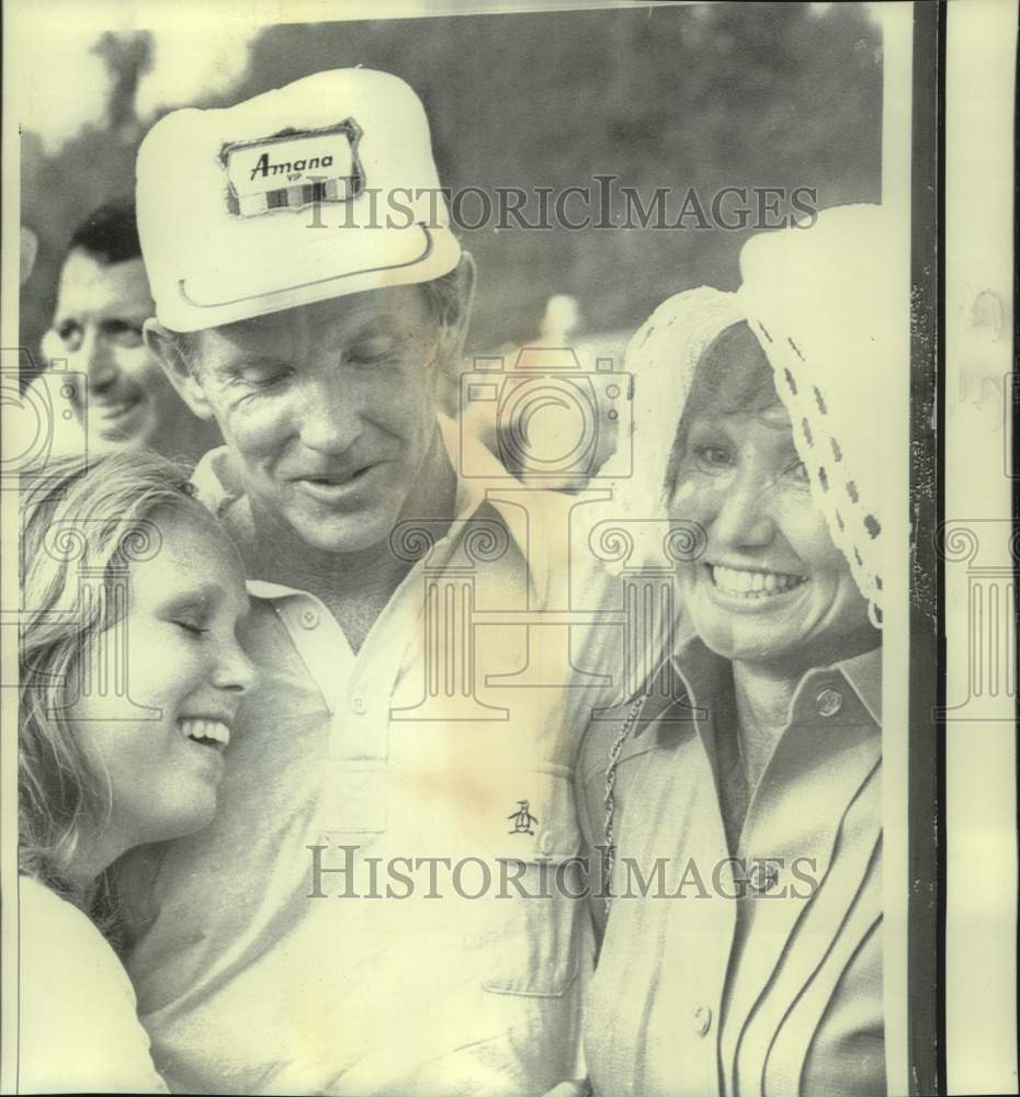
<path fill-rule="evenodd" d="M 248 598 L 225 534 L 182 508 L 152 521 L 159 551 L 131 564 L 126 611 L 86 645 L 68 683 L 68 723 L 110 792 L 92 837 L 111 859 L 213 818 L 223 753 L 253 685 L 237 638 Z"/>

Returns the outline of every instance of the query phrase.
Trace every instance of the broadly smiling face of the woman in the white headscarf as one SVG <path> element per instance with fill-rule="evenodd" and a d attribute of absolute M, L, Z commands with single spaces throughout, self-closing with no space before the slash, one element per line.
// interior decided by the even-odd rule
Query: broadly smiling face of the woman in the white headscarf
<path fill-rule="evenodd" d="M 868 603 L 815 506 L 782 405 L 695 412 L 680 446 L 670 512 L 706 535 L 680 575 L 702 641 L 782 675 L 873 646 Z"/>

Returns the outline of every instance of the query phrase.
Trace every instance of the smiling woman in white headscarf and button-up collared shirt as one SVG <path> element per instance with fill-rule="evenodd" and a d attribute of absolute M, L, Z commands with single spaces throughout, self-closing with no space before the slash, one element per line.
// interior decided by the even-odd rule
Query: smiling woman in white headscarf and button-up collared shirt
<path fill-rule="evenodd" d="M 635 385 L 675 394 L 644 427 L 703 552 L 678 564 L 687 635 L 582 747 L 582 828 L 622 896 L 593 909 L 597 1094 L 885 1092 L 882 420 L 861 373 L 907 370 L 894 238 L 864 206 L 762 234 L 737 294 L 678 294 L 628 348 Z M 635 859 L 676 877 L 637 896 Z M 692 864 L 713 891 L 661 902 L 692 896 Z"/>

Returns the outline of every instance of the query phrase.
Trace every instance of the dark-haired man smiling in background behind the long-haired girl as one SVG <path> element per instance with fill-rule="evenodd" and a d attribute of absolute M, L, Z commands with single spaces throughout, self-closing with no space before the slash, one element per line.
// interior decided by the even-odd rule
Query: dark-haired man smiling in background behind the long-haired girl
<path fill-rule="evenodd" d="M 219 442 L 215 425 L 192 415 L 145 346 L 141 328 L 155 310 L 135 205 L 118 199 L 71 236 L 43 337 L 44 361 L 60 369 L 33 384 L 52 386 L 65 371 L 78 375 L 65 386 L 73 418 L 55 418 L 57 453 L 80 452 L 86 443 L 93 454 L 147 445 L 193 464 Z"/>

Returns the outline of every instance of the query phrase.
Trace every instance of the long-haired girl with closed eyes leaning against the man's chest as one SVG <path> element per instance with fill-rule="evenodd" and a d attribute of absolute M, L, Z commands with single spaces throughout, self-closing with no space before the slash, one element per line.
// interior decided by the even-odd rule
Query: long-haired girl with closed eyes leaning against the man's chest
<path fill-rule="evenodd" d="M 236 636 L 248 601 L 239 561 L 182 482 L 156 456 L 113 454 L 91 467 L 49 465 L 24 494 L 26 1093 L 163 1088 L 134 992 L 100 932 L 116 920 L 105 870 L 213 818 L 230 725 L 252 686 Z"/>

